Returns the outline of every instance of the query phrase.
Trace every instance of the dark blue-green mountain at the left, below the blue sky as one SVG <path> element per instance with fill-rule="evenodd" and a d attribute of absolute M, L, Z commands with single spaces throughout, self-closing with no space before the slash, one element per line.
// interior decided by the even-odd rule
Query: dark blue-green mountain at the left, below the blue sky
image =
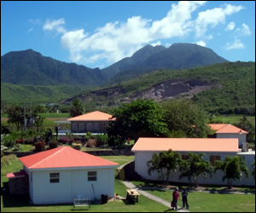
<path fill-rule="evenodd" d="M 32 85 L 101 85 L 99 68 L 90 69 L 45 57 L 32 49 L 1 56 L 1 83 Z"/>

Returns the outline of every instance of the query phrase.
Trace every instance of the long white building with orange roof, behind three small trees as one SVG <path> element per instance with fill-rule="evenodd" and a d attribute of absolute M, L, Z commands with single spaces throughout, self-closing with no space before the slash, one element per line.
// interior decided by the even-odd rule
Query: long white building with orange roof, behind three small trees
<path fill-rule="evenodd" d="M 148 160 L 152 159 L 153 153 L 160 153 L 172 149 L 177 153 L 181 153 L 183 158 L 188 156 L 188 153 L 205 153 L 204 159 L 214 164 L 215 160 L 224 160 L 226 156 L 241 156 L 244 158 L 250 174 L 252 173 L 251 164 L 255 158 L 255 151 L 239 152 L 237 138 L 139 138 L 134 147 L 131 149 L 135 153 L 135 171 L 145 179 L 160 181 L 160 175 L 154 172 L 148 175 Z M 170 177 L 169 181 L 188 182 L 187 178 L 179 180 L 180 172 L 177 171 Z M 224 176 L 221 170 L 216 174 L 207 176 L 199 176 L 199 184 L 218 184 L 226 185 L 222 181 Z M 234 185 L 255 186 L 253 176 L 242 177 L 241 181 L 234 181 Z"/>

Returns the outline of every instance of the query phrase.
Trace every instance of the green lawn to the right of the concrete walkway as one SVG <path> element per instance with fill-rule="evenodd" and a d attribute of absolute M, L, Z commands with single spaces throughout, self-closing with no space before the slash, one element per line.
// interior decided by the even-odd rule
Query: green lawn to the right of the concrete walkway
<path fill-rule="evenodd" d="M 158 186 L 156 182 L 150 184 L 150 181 L 146 184 L 143 181 L 133 181 L 133 184 L 136 186 Z M 172 192 L 169 189 L 148 190 L 148 193 L 170 201 L 172 200 Z M 255 212 L 255 195 L 252 194 L 189 192 L 188 200 L 189 211 L 191 212 Z M 177 205 L 182 207 L 182 201 L 178 201 Z"/>

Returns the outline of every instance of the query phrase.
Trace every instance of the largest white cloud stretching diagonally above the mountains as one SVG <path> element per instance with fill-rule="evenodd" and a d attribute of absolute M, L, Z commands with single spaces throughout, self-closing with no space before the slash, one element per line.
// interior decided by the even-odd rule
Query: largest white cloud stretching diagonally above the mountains
<path fill-rule="evenodd" d="M 107 60 L 113 63 L 134 54 L 145 44 L 160 45 L 160 39 L 188 37 L 195 32 L 198 44 L 206 46 L 205 40 L 213 38 L 205 35 L 209 27 L 224 24 L 225 17 L 234 14 L 242 6 L 224 6 L 200 12 L 193 20 L 192 13 L 206 2 L 181 1 L 172 3 L 172 8 L 160 20 L 144 19 L 132 16 L 125 22 L 109 22 L 96 28 L 95 32 L 84 32 L 84 29 L 67 31 L 65 20 L 47 20 L 44 31 L 61 33 L 61 45 L 70 53 L 70 60 L 77 63 L 97 63 Z M 245 28 L 245 27 L 244 27 Z M 245 32 L 245 30 L 244 30 Z M 204 41 L 203 41 L 204 40 Z M 166 46 L 170 44 L 166 43 Z M 102 62 L 101 62 L 102 63 Z"/>

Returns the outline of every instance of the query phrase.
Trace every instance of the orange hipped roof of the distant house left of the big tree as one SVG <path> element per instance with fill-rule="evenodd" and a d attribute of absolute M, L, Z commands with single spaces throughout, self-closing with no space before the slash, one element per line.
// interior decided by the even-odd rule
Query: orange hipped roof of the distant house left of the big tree
<path fill-rule="evenodd" d="M 105 112 L 100 112 L 100 111 L 95 111 L 95 112 L 89 112 L 83 115 L 79 115 L 77 117 L 73 118 L 68 118 L 68 121 L 108 121 L 108 120 L 115 120 L 115 118 L 112 118 L 112 115 L 105 113 Z"/>

